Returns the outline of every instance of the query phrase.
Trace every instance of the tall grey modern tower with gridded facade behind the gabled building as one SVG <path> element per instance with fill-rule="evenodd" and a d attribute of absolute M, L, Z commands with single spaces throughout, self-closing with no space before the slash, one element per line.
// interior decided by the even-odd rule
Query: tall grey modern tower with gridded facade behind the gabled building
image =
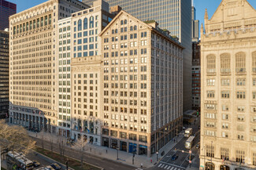
<path fill-rule="evenodd" d="M 83 0 L 91 4 L 95 0 Z M 124 11 L 139 20 L 155 20 L 159 27 L 170 31 L 170 34 L 180 39 L 184 49 L 184 111 L 191 109 L 191 0 L 106 0 L 109 7 L 120 5 Z"/>

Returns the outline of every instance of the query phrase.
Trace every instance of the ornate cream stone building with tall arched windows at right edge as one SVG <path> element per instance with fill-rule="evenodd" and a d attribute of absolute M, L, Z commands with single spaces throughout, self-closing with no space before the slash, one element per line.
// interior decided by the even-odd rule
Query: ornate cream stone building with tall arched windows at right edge
<path fill-rule="evenodd" d="M 256 11 L 223 0 L 201 27 L 201 169 L 256 168 Z"/>

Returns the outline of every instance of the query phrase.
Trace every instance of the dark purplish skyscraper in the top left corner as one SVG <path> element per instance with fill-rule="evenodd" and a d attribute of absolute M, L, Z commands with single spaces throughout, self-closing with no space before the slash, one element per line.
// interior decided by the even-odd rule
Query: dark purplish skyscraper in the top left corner
<path fill-rule="evenodd" d="M 0 30 L 9 28 L 9 16 L 16 13 L 16 4 L 0 0 Z"/>

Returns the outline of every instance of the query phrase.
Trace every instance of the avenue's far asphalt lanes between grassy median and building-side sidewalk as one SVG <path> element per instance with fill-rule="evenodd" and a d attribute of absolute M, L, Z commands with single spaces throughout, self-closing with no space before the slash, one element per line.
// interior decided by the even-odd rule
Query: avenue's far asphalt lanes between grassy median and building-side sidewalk
<path fill-rule="evenodd" d="M 41 146 L 41 140 L 33 138 L 39 145 Z M 44 142 L 44 148 L 50 150 L 50 143 L 45 141 Z M 59 152 L 58 145 L 54 143 L 54 151 Z M 72 150 L 69 147 L 65 147 L 65 156 L 75 158 L 77 160 L 80 160 L 80 154 L 76 150 Z M 129 165 L 124 165 L 116 161 L 111 161 L 106 158 L 102 157 L 94 157 L 92 155 L 84 154 L 83 160 L 86 163 L 89 163 L 91 165 L 96 165 L 98 167 L 104 168 L 105 170 L 134 170 L 135 168 Z"/>

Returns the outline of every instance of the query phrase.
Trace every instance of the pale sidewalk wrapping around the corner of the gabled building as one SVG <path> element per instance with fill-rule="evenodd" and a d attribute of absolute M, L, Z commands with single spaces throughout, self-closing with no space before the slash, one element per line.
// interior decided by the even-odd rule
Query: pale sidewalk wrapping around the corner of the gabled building
<path fill-rule="evenodd" d="M 32 136 L 32 137 L 36 137 L 35 132 L 28 132 L 28 135 Z M 178 142 L 180 142 L 180 139 L 183 139 L 183 137 L 184 137 L 183 134 L 179 134 Z M 39 136 L 37 138 L 39 138 Z M 176 137 L 174 139 L 176 139 Z M 176 146 L 176 143 L 174 143 L 173 141 L 170 141 L 164 147 L 162 147 L 161 150 L 158 151 L 158 153 L 159 153 L 158 161 L 161 160 L 161 152 L 165 151 L 165 154 L 167 154 L 169 152 L 169 150 L 171 150 L 174 146 Z M 132 165 L 132 154 L 121 151 L 121 150 L 118 150 L 119 160 L 117 160 L 117 150 L 114 150 L 112 148 L 103 147 L 103 146 L 87 144 L 85 146 L 85 153 L 91 154 L 92 156 L 96 156 L 96 157 L 104 157 L 109 160 L 118 161 L 125 165 Z M 163 155 L 163 157 L 164 157 L 164 155 Z M 152 159 L 152 163 L 150 163 L 151 159 Z M 157 163 L 157 154 L 153 154 L 151 157 L 135 154 L 134 165 L 132 165 L 132 166 L 140 167 L 141 163 L 143 164 L 143 168 L 150 168 L 150 167 L 154 166 L 154 164 Z"/>

